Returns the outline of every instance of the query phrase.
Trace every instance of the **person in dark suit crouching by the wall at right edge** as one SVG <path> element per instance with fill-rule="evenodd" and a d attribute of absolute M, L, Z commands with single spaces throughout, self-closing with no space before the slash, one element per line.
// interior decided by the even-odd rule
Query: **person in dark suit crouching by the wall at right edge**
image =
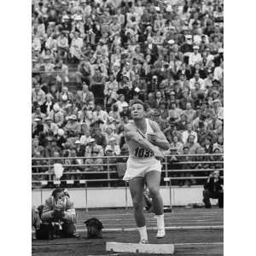
<path fill-rule="evenodd" d="M 218 199 L 218 207 L 224 206 L 224 191 L 222 188 L 223 179 L 219 177 L 219 172 L 214 171 L 207 179 L 207 183 L 204 185 L 203 202 L 206 208 L 211 208 L 210 198 Z"/>

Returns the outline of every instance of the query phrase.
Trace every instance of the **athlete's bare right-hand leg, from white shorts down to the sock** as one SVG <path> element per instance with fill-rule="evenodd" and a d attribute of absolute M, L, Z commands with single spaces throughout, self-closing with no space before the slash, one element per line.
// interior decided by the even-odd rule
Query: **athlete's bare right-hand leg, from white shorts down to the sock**
<path fill-rule="evenodd" d="M 160 195 L 160 177 L 161 172 L 158 171 L 147 172 L 145 175 L 149 193 L 152 197 L 154 213 L 156 215 L 161 215 L 164 213 L 163 200 Z"/>

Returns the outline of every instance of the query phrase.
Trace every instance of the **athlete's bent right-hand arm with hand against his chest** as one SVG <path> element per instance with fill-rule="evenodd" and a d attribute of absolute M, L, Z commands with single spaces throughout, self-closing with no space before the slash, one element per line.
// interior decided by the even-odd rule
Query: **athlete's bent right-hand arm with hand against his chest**
<path fill-rule="evenodd" d="M 158 125 L 158 123 L 152 120 L 149 120 L 149 122 L 155 132 L 154 134 L 148 134 L 149 142 L 154 143 L 154 145 L 158 146 L 163 150 L 168 150 L 170 148 L 170 143 L 167 141 L 164 133 L 160 130 L 160 126 Z"/>

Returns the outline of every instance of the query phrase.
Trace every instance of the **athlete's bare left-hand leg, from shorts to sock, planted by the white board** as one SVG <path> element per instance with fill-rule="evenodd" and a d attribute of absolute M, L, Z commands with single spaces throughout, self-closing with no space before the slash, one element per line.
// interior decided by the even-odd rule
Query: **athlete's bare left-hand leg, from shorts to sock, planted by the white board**
<path fill-rule="evenodd" d="M 143 190 L 144 178 L 134 177 L 129 182 L 131 198 L 134 208 L 134 217 L 138 227 L 145 225 L 145 217 L 143 214 Z"/>

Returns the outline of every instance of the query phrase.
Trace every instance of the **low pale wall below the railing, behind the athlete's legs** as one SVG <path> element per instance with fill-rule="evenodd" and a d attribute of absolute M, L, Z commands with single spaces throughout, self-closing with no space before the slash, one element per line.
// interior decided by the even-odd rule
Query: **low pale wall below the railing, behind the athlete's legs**
<path fill-rule="evenodd" d="M 38 206 L 44 203 L 53 189 L 32 190 L 32 205 Z M 172 206 L 186 206 L 189 203 L 202 202 L 202 186 L 193 187 L 172 187 Z M 86 207 L 85 189 L 68 189 L 76 208 Z M 125 193 L 127 195 L 127 206 L 131 207 L 131 195 L 129 188 L 89 188 L 87 190 L 87 207 L 125 207 Z M 161 187 L 160 193 L 164 205 L 170 205 L 169 187 Z"/>

